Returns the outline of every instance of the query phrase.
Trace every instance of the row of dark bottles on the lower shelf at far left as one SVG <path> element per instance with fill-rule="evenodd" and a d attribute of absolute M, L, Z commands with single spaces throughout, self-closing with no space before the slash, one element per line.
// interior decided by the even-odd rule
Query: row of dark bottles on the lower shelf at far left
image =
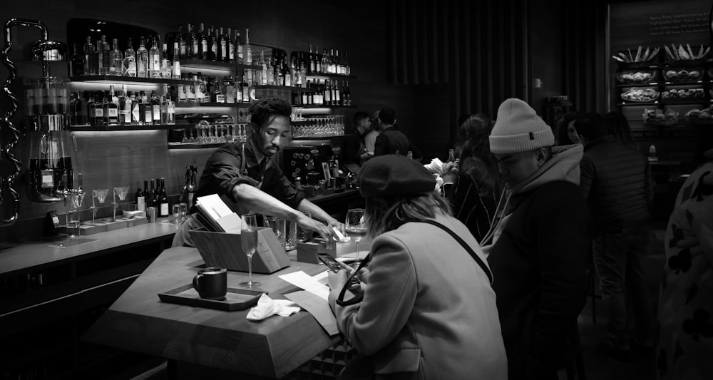
<path fill-rule="evenodd" d="M 164 86 L 163 95 L 151 91 L 121 93 L 109 91 L 78 91 L 71 93 L 69 103 L 71 125 L 147 125 L 175 124 L 175 103 Z"/>

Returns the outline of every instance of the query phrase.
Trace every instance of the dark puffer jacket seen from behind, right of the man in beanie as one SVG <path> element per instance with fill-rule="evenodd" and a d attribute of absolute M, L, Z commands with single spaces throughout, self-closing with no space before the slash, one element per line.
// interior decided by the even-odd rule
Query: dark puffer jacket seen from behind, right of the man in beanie
<path fill-rule="evenodd" d="M 580 189 L 596 231 L 646 225 L 651 220 L 651 168 L 638 150 L 607 135 L 585 145 Z"/>

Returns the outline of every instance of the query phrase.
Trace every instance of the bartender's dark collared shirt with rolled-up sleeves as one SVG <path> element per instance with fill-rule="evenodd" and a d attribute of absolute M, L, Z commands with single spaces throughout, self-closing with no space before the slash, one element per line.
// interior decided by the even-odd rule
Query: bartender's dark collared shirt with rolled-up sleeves
<path fill-rule="evenodd" d="M 232 188 L 241 183 L 255 186 L 294 209 L 304 199 L 304 193 L 289 182 L 279 165 L 265 157 L 252 140 L 245 144 L 225 144 L 210 155 L 200 176 L 196 197 L 221 195 L 232 210 L 242 213 L 246 210 L 241 209 L 231 195 Z"/>

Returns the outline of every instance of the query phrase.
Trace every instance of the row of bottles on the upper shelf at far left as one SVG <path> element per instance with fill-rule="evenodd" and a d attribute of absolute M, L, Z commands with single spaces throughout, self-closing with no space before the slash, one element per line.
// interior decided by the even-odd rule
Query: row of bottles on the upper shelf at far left
<path fill-rule="evenodd" d="M 87 41 L 80 51 L 76 43 L 70 60 L 72 76 L 133 76 L 139 78 L 180 78 L 180 63 L 171 61 L 167 43 L 160 45 L 159 36 L 149 37 L 150 48 L 146 48 L 144 37 L 139 38 L 138 50 L 133 48 L 132 38 L 128 38 L 125 50 L 119 48 L 118 40 L 113 38 L 111 47 L 105 35 L 96 44 L 87 36 Z M 159 50 L 158 46 L 163 46 Z M 178 43 L 173 43 L 178 50 Z"/>

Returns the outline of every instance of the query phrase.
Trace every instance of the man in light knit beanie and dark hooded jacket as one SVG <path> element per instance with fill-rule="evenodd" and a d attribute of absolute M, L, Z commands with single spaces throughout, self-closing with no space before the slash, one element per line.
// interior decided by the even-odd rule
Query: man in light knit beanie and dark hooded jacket
<path fill-rule="evenodd" d="M 583 148 L 554 142 L 528 103 L 511 98 L 498 108 L 490 148 L 508 188 L 488 262 L 509 379 L 556 379 L 579 344 L 592 239 L 578 188 Z"/>

